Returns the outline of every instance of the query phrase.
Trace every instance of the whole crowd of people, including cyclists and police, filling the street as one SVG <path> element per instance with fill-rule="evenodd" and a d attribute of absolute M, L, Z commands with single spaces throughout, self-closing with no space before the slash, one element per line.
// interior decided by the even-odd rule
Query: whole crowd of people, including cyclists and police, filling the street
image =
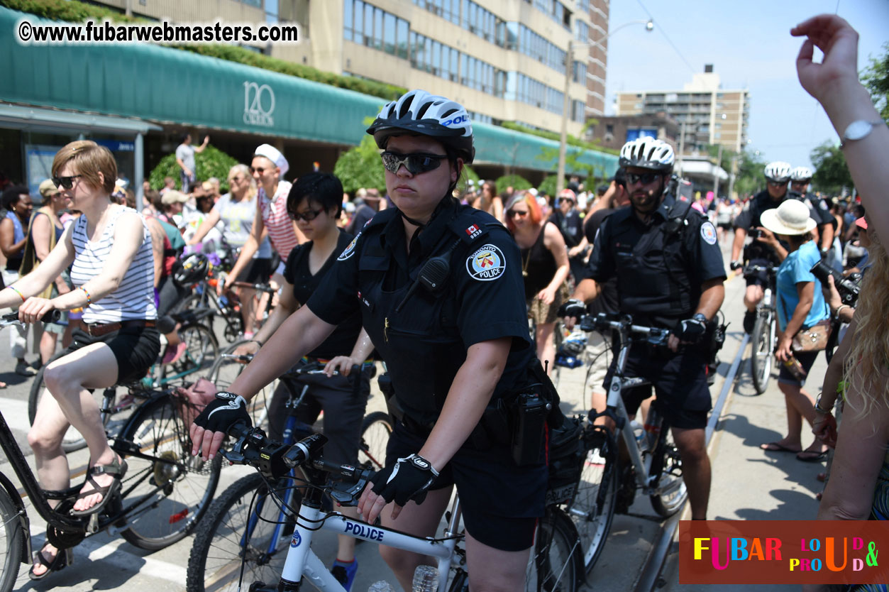
<path fill-rule="evenodd" d="M 889 132 L 858 82 L 853 29 L 821 16 L 792 34 L 807 37 L 797 60 L 800 81 L 843 139 L 860 203 L 809 193 L 813 172 L 783 162 L 765 167 L 766 187 L 755 196 L 688 198 L 672 174 L 673 148 L 653 138 L 627 142 L 619 170 L 595 191 L 578 179 L 557 196 L 497 188 L 491 180 L 461 191 L 463 167 L 475 156 L 472 124 L 460 104 L 424 91 L 391 101 L 367 129 L 381 150 L 386 184 L 355 196 L 331 173 L 288 175 L 290 163 L 269 144 L 255 148 L 249 165 L 231 167 L 222 194 L 219 180 L 196 178 L 195 155 L 209 138 L 194 147 L 187 134 L 176 150 L 179 188 L 171 178 L 157 190 L 145 186 L 137 212 L 107 148 L 90 140 L 68 144 L 55 156 L 52 179 L 40 186 L 39 209 L 28 188 L 13 186 L 3 193 L 0 221 L 0 307 L 18 308 L 35 327 L 53 309 L 67 312 L 43 324 L 34 341 L 47 391 L 28 442 L 41 486 L 68 486 L 61 438 L 73 425 L 90 463 L 72 513 L 94 514 L 119 490 L 126 462 L 108 447 L 91 391 L 144 376 L 159 356 L 169 362 L 181 355 L 169 312 L 188 287 L 173 268 L 180 252 L 212 242 L 238 251 L 220 293 L 236 281 L 268 281 L 280 292 L 258 328 L 257 295 L 240 289 L 249 341 L 238 353 L 252 362 L 197 416 L 192 453 L 211 459 L 229 426 L 249 422 L 246 405 L 260 388 L 294 365 L 321 363 L 328 377 L 339 376 L 304 379 L 313 390 L 300 420 L 311 425 L 324 411 L 329 457 L 355 464 L 370 368 L 383 359 L 404 417 L 391 435 L 386 468 L 354 513 L 432 535 L 456 486 L 473 588 L 512 590 L 524 579 L 544 508 L 544 428 L 525 435 L 536 444 L 517 458 L 501 409 L 530 390 L 551 403 L 550 428 L 561 425 L 558 395 L 546 378 L 557 359 L 559 317 L 570 329 L 582 314 L 621 312 L 669 330 L 666 347 L 634 346 L 625 370 L 652 382 L 653 404 L 669 420 L 681 456 L 693 519 L 706 519 L 710 336 L 727 268 L 776 270 L 775 356 L 788 433 L 762 448 L 813 461 L 836 447 L 819 517 L 885 519 L 889 205 L 880 195 L 887 174 L 880 158 Z M 821 64 L 812 61 L 814 46 L 825 52 Z M 720 247 L 726 237 L 733 239 L 728 266 Z M 445 268 L 437 282 L 424 275 L 432 260 Z M 820 262 L 837 276 L 822 283 L 813 273 Z M 844 300 L 846 280 L 861 277 L 858 301 Z M 765 272 L 745 278 L 743 325 L 750 332 L 769 279 Z M 816 398 L 804 387 L 825 347 L 801 344 L 800 336 L 819 341 L 837 324 L 847 325 L 845 339 L 837 340 Z M 10 338 L 16 372 L 34 374 L 25 332 Z M 596 351 L 607 347 L 607 336 L 589 342 Z M 361 396 L 352 400 L 348 375 L 356 364 Z M 605 406 L 614 364 L 602 362 L 590 374 L 592 409 Z M 273 409 L 283 408 L 285 396 L 276 392 Z M 651 388 L 625 393 L 628 412 L 645 412 L 651 396 Z M 271 414 L 273 435 L 283 415 Z M 804 420 L 814 432 L 805 447 Z M 632 480 L 627 471 L 621 475 L 621 483 Z M 410 588 L 424 559 L 386 547 L 381 554 Z M 29 575 L 43 579 L 66 561 L 46 542 Z M 356 569 L 354 540 L 341 537 L 333 571 L 348 588 Z"/>

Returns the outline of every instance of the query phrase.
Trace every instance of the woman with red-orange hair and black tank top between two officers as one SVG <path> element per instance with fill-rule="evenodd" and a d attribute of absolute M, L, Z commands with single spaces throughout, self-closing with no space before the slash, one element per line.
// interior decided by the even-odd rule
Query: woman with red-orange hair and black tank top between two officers
<path fill-rule="evenodd" d="M 543 218 L 531 192 L 514 196 L 506 216 L 506 228 L 522 250 L 525 303 L 535 325 L 537 357 L 549 361 L 549 370 L 556 359 L 556 313 L 569 296 L 565 284 L 570 270 L 568 248 L 558 227 Z"/>

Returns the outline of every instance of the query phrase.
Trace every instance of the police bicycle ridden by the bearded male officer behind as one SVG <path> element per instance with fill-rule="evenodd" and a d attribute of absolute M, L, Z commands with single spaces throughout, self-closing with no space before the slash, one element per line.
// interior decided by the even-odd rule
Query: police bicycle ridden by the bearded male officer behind
<path fill-rule="evenodd" d="M 669 330 L 633 324 L 629 315 L 605 313 L 581 317 L 581 330 L 603 333 L 610 330 L 617 338 L 618 348 L 605 410 L 590 411 L 584 427 L 586 460 L 577 491 L 566 505 L 581 537 L 583 564 L 589 573 L 602 554 L 614 514 L 627 512 L 637 490 L 650 497 L 652 508 L 663 517 L 672 516 L 682 508 L 688 492 L 669 423 L 657 411 L 657 405 L 649 408 L 645 426 L 639 427 L 629 419 L 621 398 L 621 392 L 626 389 L 651 384 L 643 378 L 624 374 L 631 345 L 645 342 L 666 347 Z M 599 418 L 611 420 L 613 428 L 602 422 L 597 424 Z M 618 436 L 629 456 L 627 467 L 622 466 Z"/>

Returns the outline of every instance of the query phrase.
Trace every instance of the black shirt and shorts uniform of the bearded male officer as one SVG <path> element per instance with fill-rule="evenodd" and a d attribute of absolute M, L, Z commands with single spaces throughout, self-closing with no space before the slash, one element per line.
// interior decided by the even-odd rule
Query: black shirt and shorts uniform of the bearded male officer
<path fill-rule="evenodd" d="M 677 329 L 691 318 L 701 300 L 701 284 L 724 279 L 722 252 L 716 228 L 691 203 L 667 195 L 648 224 L 632 208 L 613 212 L 603 222 L 589 259 L 588 276 L 601 284 L 613 276 L 621 313 L 636 324 Z M 707 425 L 710 393 L 707 386 L 708 351 L 704 345 L 666 347 L 635 344 L 624 368 L 654 386 L 659 411 L 677 428 Z M 603 383 L 608 388 L 615 358 Z M 629 413 L 651 396 L 648 387 L 624 393 Z"/>

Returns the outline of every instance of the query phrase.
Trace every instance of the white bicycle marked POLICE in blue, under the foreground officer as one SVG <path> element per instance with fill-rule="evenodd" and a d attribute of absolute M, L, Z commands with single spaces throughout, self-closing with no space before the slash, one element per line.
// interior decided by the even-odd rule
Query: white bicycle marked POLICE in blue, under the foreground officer
<path fill-rule="evenodd" d="M 324 460 L 326 438 L 308 436 L 288 446 L 268 440 L 259 428 L 236 425 L 228 460 L 249 465 L 257 474 L 214 502 L 212 519 L 197 532 L 188 562 L 188 592 L 252 592 L 297 590 L 303 580 L 325 591 L 344 588 L 312 550 L 316 532 L 346 534 L 358 540 L 385 544 L 436 558 L 439 592 L 468 591 L 466 555 L 461 548 L 461 507 L 454 497 L 446 514 L 443 536 L 416 537 L 325 511 L 325 498 L 354 506 L 373 471 Z M 329 484 L 327 475 L 344 478 Z M 299 504 L 291 503 L 294 489 Z M 284 519 L 282 519 L 284 517 Z M 295 523 L 295 524 L 294 524 Z M 288 528 L 289 526 L 289 528 Z M 527 568 L 526 590 L 572 592 L 582 580 L 577 532 L 565 513 L 550 507 L 541 519 Z"/>

